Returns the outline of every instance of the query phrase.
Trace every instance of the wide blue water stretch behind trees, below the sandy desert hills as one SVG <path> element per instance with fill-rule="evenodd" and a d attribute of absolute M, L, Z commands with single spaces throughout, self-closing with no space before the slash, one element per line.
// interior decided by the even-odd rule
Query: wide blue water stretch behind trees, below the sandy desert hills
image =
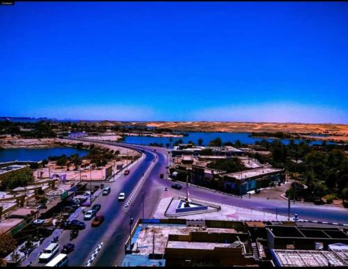
<path fill-rule="evenodd" d="M 244 144 L 255 144 L 255 141 L 261 141 L 260 137 L 249 137 L 249 133 L 247 132 L 188 132 L 188 137 L 173 137 L 172 145 L 178 139 L 182 139 L 184 143 L 188 141 L 193 141 L 193 143 L 198 144 L 198 139 L 203 139 L 203 146 L 207 146 L 209 141 L 212 141 L 216 137 L 220 137 L 223 143 L 232 142 L 238 139 Z M 274 140 L 282 141 L 283 144 L 290 144 L 290 139 L 266 139 L 271 142 Z M 300 141 L 304 141 L 302 139 L 294 139 L 294 143 L 298 144 Z M 167 143 L 170 143 L 169 137 L 136 137 L 132 135 L 125 136 L 125 143 L 129 144 L 141 144 L 148 145 L 150 143 L 163 144 L 166 146 Z M 314 144 L 322 144 L 322 141 L 310 141 L 310 145 Z M 332 144 L 332 142 L 327 142 L 326 144 Z"/>

